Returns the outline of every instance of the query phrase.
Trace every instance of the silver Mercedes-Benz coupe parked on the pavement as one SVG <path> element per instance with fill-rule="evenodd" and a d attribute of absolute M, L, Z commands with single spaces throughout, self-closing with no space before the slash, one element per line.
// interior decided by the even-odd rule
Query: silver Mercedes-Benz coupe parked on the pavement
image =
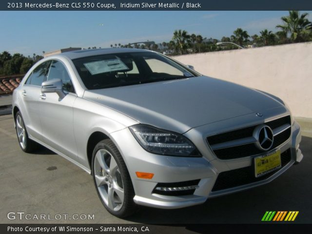
<path fill-rule="evenodd" d="M 118 217 L 263 185 L 303 157 L 281 99 L 147 50 L 42 59 L 14 91 L 13 115 L 24 152 L 39 143 L 90 173 Z"/>

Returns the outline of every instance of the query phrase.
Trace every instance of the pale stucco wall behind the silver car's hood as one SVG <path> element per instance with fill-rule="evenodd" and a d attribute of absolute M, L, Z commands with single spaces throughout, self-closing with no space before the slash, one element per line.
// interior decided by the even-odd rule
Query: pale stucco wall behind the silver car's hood
<path fill-rule="evenodd" d="M 295 117 L 312 118 L 312 42 L 175 56 L 203 75 L 282 98 Z"/>

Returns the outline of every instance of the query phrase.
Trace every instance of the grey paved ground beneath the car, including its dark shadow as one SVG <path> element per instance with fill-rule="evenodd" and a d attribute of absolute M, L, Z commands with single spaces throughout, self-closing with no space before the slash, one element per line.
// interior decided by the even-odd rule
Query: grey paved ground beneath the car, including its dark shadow
<path fill-rule="evenodd" d="M 312 223 L 312 138 L 300 146 L 303 161 L 268 185 L 185 209 L 142 207 L 124 220 L 105 211 L 92 177 L 74 164 L 45 149 L 23 153 L 12 116 L 0 116 L 0 223 L 259 223 L 268 210 L 299 211 L 295 223 Z M 95 220 L 9 220 L 8 212 L 94 214 Z"/>

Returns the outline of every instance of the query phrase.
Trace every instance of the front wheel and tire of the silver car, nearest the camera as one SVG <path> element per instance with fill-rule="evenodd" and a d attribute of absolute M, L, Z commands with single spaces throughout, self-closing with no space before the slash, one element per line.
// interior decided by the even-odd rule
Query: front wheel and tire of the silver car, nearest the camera
<path fill-rule="evenodd" d="M 122 218 L 137 211 L 129 172 L 116 145 L 110 139 L 98 142 L 94 148 L 92 175 L 98 197 L 109 213 Z"/>

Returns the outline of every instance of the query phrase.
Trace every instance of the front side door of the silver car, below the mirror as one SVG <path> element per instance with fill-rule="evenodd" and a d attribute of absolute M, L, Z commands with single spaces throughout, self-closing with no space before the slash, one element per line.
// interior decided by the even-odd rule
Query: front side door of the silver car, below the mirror
<path fill-rule="evenodd" d="M 52 60 L 47 80 L 59 78 L 63 82 L 64 98 L 57 93 L 41 94 L 42 109 L 40 121 L 42 124 L 43 142 L 55 150 L 69 156 L 77 157 L 77 147 L 73 128 L 73 105 L 77 98 L 70 75 L 60 60 Z"/>

